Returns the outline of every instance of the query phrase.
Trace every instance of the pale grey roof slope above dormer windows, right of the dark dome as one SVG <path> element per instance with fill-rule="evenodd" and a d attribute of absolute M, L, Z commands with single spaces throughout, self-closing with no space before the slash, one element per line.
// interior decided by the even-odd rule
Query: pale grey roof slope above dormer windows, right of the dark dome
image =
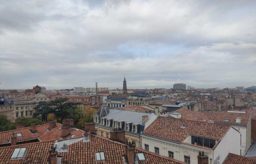
<path fill-rule="evenodd" d="M 142 113 L 129 110 L 109 109 L 109 114 L 104 118 L 115 121 L 132 122 L 133 124 L 142 124 L 142 116 L 148 116 L 150 119 L 154 113 Z"/>

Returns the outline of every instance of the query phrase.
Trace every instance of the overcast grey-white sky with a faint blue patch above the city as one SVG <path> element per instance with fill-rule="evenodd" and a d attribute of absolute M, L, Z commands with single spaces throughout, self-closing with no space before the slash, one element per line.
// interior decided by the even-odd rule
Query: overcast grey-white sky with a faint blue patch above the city
<path fill-rule="evenodd" d="M 256 85 L 256 1 L 3 0 L 0 89 Z"/>

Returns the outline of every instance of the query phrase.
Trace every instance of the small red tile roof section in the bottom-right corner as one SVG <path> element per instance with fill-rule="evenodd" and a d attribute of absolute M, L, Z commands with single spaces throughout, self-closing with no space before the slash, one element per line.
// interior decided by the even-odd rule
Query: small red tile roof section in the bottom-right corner
<path fill-rule="evenodd" d="M 229 153 L 222 164 L 256 164 L 256 159 Z"/>

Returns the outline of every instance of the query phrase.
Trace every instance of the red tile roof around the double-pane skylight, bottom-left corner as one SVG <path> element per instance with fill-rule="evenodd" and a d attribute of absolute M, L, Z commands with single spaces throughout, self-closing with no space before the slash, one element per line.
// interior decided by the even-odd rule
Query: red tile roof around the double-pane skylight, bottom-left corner
<path fill-rule="evenodd" d="M 47 164 L 51 144 L 54 144 L 54 141 L 2 147 L 0 148 L 0 164 Z M 26 148 L 23 159 L 10 159 L 15 148 Z"/>

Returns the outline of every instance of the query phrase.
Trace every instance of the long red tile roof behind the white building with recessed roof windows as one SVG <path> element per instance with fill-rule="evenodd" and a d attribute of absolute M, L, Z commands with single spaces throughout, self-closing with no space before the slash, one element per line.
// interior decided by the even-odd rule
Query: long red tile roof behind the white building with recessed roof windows
<path fill-rule="evenodd" d="M 212 120 L 214 122 L 219 122 L 222 124 L 234 124 L 247 126 L 250 114 L 247 113 L 232 113 L 232 112 L 192 112 L 185 108 L 176 110 L 175 112 L 181 113 L 181 119 L 192 120 L 192 121 L 208 121 Z M 236 118 L 240 117 L 241 122 L 236 123 Z M 229 120 L 225 122 L 224 120 Z"/>

